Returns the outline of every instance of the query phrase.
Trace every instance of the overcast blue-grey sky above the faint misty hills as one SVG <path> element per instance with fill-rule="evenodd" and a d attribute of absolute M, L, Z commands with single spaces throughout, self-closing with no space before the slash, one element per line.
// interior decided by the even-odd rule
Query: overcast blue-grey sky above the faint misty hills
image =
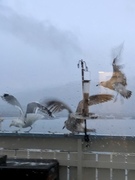
<path fill-rule="evenodd" d="M 122 63 L 135 78 L 134 0 L 1 0 L 0 93 L 80 80 L 112 71 L 112 49 L 124 42 Z"/>

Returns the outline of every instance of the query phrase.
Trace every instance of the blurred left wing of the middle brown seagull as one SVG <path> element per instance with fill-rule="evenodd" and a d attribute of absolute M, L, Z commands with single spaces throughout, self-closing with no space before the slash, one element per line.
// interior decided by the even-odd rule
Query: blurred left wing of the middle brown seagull
<path fill-rule="evenodd" d="M 46 100 L 44 103 L 46 108 L 52 113 L 58 113 L 63 110 L 67 110 L 69 113 L 73 112 L 67 104 L 57 99 Z"/>

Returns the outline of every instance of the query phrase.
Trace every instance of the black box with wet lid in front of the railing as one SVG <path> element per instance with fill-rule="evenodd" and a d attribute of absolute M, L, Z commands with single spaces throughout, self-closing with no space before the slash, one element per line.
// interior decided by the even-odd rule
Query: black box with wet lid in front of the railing
<path fill-rule="evenodd" d="M 3 178 L 59 180 L 59 163 L 54 159 L 8 159 L 0 164 Z"/>

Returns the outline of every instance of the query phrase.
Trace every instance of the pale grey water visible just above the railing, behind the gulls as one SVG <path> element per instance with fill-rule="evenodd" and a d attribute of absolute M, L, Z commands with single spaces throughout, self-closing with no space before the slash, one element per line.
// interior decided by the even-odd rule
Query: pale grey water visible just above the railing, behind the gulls
<path fill-rule="evenodd" d="M 1 133 L 11 133 L 18 130 L 17 127 L 9 127 L 14 117 L 5 117 L 1 124 Z M 62 129 L 66 117 L 54 120 L 37 120 L 33 124 L 33 128 L 29 133 L 71 133 L 67 129 Z M 135 120 L 130 118 L 124 119 L 89 119 L 87 120 L 87 128 L 96 129 L 96 135 L 118 135 L 118 136 L 134 136 L 135 135 Z M 26 133 L 30 128 L 22 128 L 19 132 Z"/>

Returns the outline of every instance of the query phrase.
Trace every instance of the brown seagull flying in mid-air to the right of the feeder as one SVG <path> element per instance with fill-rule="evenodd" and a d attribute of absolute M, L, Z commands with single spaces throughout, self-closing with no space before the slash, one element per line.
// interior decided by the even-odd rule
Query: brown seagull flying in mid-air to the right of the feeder
<path fill-rule="evenodd" d="M 123 68 L 122 65 L 118 65 L 118 57 L 116 56 L 113 59 L 112 67 L 113 67 L 113 74 L 112 77 L 108 81 L 101 81 L 96 86 L 103 86 L 105 88 L 109 88 L 113 91 L 117 92 L 115 100 L 117 99 L 118 94 L 120 94 L 123 98 L 130 98 L 132 95 L 132 91 L 126 89 L 127 86 L 127 78 L 125 74 L 121 71 Z"/>

